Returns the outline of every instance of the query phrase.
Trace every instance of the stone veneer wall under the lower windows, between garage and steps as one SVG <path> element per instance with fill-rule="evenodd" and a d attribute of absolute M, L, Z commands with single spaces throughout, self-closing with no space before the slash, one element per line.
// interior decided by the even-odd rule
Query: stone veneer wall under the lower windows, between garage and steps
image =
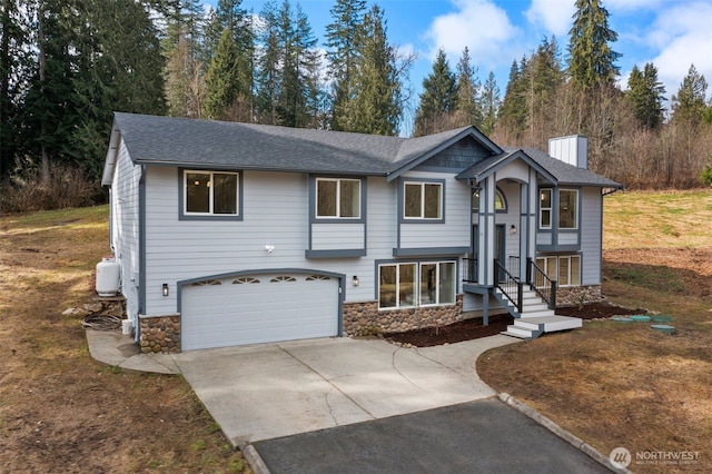
<path fill-rule="evenodd" d="M 345 336 L 402 333 L 425 327 L 445 326 L 463 319 L 463 296 L 454 305 L 378 310 L 378 302 L 345 303 Z"/>

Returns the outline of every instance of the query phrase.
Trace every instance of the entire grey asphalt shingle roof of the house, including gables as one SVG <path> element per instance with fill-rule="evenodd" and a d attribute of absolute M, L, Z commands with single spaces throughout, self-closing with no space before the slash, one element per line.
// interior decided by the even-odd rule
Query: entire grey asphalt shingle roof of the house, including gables
<path fill-rule="evenodd" d="M 481 135 L 473 127 L 464 127 L 402 138 L 122 112 L 115 113 L 115 129 L 120 130 L 137 164 L 375 176 L 406 169 L 464 136 Z M 491 148 L 496 145 L 491 144 Z M 467 175 L 476 176 L 520 150 L 502 149 L 503 154 L 471 167 Z M 560 182 L 621 186 L 540 150 L 523 151 Z"/>

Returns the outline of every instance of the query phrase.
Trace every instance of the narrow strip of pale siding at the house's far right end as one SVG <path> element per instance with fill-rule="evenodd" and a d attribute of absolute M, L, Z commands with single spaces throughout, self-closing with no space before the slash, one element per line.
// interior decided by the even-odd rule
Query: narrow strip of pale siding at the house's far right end
<path fill-rule="evenodd" d="M 601 218 L 603 196 L 600 188 L 583 188 L 581 221 L 581 284 L 601 284 Z"/>

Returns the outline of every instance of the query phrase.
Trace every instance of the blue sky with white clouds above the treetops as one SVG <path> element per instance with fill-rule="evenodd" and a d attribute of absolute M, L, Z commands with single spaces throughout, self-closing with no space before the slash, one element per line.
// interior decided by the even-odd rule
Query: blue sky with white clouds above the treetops
<path fill-rule="evenodd" d="M 244 0 L 243 7 L 258 13 L 264 3 Z M 296 3 L 323 42 L 334 1 L 293 0 Z M 467 46 L 481 80 L 494 71 L 504 96 L 512 61 L 530 56 L 544 37 L 555 34 L 565 53 L 575 11 L 574 0 L 379 0 L 368 6 L 373 3 L 385 10 L 389 41 L 417 55 L 409 75 L 414 107 L 438 49 L 445 50 L 454 70 Z M 712 0 L 603 0 L 603 6 L 619 33 L 613 49 L 623 55 L 617 62 L 623 87 L 634 65 L 642 69 L 652 61 L 670 97 L 694 63 L 711 85 L 710 97 Z"/>

